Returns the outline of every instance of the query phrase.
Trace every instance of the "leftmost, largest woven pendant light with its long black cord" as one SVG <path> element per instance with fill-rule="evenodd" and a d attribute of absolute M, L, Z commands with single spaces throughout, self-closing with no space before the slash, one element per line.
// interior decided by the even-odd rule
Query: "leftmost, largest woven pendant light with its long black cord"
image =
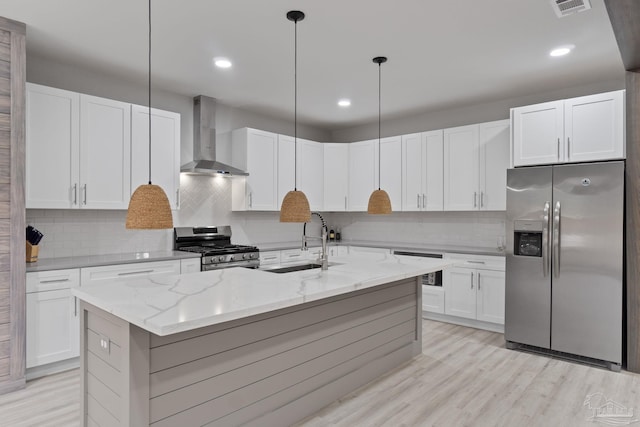
<path fill-rule="evenodd" d="M 164 190 L 151 184 L 151 0 L 149 0 L 149 184 L 133 192 L 127 210 L 127 229 L 155 230 L 173 228 L 171 205 Z"/>

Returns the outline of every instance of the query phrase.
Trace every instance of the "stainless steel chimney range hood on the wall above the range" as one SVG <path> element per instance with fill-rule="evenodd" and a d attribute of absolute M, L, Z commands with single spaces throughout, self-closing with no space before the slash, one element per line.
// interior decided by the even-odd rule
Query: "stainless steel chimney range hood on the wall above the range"
<path fill-rule="evenodd" d="M 216 160 L 216 100 L 199 95 L 193 98 L 193 161 L 180 172 L 196 175 L 247 176 L 247 172 Z"/>

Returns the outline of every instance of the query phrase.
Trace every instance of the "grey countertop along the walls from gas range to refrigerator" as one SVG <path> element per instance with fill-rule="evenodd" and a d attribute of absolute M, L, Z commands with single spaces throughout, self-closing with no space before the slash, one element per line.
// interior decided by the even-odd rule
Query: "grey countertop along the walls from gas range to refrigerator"
<path fill-rule="evenodd" d="M 474 254 L 474 255 L 493 255 L 504 256 L 504 251 L 498 250 L 497 247 L 477 247 L 464 245 L 438 245 L 425 243 L 423 245 L 401 242 L 382 242 L 382 241 L 362 241 L 362 240 L 341 240 L 339 242 L 331 242 L 329 246 L 370 246 L 374 248 L 398 249 L 416 252 L 435 252 L 435 253 L 454 253 L 454 254 Z M 257 245 L 261 251 L 278 251 L 285 249 L 298 249 L 300 242 L 281 242 L 281 243 L 261 243 Z M 309 247 L 317 246 L 316 242 L 310 244 Z"/>

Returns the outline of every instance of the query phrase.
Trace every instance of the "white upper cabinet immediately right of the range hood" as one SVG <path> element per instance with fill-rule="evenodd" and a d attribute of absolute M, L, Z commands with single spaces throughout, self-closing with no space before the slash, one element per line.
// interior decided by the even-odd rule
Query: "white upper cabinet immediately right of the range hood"
<path fill-rule="evenodd" d="M 278 210 L 278 135 L 242 128 L 232 139 L 233 165 L 249 172 L 232 181 L 233 210 Z"/>

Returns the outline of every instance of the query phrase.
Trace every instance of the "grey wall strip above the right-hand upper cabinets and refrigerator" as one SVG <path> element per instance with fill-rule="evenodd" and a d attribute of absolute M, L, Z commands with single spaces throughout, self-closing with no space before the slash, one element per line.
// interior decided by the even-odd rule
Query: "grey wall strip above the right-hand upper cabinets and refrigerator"
<path fill-rule="evenodd" d="M 382 136 L 403 135 L 426 130 L 445 129 L 473 123 L 490 122 L 509 118 L 509 109 L 539 102 L 555 101 L 594 93 L 608 92 L 625 88 L 624 74 L 620 79 L 605 80 L 589 85 L 572 86 L 562 90 L 541 92 L 501 101 L 451 108 L 441 111 L 429 111 L 419 114 L 406 115 L 382 121 Z M 378 137 L 378 122 L 365 125 L 334 129 L 331 141 L 353 142 Z"/>

